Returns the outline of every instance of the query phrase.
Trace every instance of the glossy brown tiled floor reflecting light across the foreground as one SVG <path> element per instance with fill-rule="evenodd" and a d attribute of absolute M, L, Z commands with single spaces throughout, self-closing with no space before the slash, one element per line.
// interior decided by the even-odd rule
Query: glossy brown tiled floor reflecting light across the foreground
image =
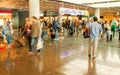
<path fill-rule="evenodd" d="M 27 47 L 0 51 L 0 75 L 120 75 L 120 44 L 99 41 L 96 59 L 88 58 L 88 39 L 49 38 L 41 55 L 27 55 Z"/>

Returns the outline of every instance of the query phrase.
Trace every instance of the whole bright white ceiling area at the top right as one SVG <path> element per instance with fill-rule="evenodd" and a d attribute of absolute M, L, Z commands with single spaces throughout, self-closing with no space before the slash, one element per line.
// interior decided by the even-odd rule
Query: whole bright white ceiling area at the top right
<path fill-rule="evenodd" d="M 63 2 L 86 5 L 94 8 L 120 7 L 120 0 L 60 0 Z"/>

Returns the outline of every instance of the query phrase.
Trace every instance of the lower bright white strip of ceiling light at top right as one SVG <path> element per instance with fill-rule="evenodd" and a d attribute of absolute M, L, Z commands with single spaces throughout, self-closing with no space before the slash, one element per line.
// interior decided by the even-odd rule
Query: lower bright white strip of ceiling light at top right
<path fill-rule="evenodd" d="M 94 7 L 94 8 L 120 7 L 120 2 L 89 4 L 87 6 Z"/>

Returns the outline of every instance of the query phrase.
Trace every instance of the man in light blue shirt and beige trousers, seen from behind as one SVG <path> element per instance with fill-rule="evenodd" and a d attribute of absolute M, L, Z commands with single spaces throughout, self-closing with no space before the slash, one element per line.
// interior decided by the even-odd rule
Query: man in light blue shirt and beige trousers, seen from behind
<path fill-rule="evenodd" d="M 102 27 L 97 22 L 98 18 L 94 17 L 93 22 L 90 25 L 90 49 L 89 49 L 89 57 L 95 58 L 97 52 L 97 44 L 98 44 L 98 37 L 102 35 Z"/>

